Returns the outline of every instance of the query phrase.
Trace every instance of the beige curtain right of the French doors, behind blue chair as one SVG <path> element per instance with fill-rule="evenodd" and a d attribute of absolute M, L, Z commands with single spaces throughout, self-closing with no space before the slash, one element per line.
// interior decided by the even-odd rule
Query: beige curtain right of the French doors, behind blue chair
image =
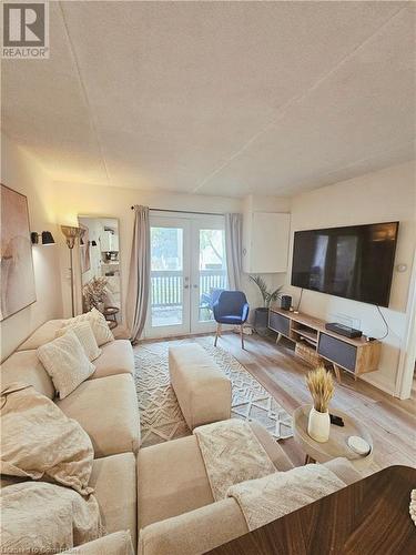
<path fill-rule="evenodd" d="M 241 290 L 243 215 L 225 214 L 225 253 L 229 287 Z"/>

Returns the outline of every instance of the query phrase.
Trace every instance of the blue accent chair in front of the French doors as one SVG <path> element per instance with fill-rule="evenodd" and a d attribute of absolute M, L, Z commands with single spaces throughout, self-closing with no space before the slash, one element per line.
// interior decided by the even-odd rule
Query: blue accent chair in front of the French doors
<path fill-rule="evenodd" d="M 212 309 L 217 323 L 214 346 L 221 336 L 221 324 L 231 324 L 240 325 L 241 346 L 244 349 L 243 324 L 250 311 L 245 294 L 242 291 L 223 291 Z"/>

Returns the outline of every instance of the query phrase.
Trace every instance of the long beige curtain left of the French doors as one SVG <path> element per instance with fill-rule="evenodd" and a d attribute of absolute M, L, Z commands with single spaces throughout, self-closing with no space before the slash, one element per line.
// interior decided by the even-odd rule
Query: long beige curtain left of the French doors
<path fill-rule="evenodd" d="M 150 222 L 148 206 L 133 206 L 134 230 L 126 297 L 130 339 L 136 343 L 143 332 L 150 289 Z"/>

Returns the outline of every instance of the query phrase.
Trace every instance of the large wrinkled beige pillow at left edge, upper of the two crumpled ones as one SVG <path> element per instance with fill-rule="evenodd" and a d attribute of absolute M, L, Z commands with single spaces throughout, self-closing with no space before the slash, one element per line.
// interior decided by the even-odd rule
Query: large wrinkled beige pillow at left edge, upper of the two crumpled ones
<path fill-rule="evenodd" d="M 43 476 L 82 495 L 89 487 L 94 450 L 80 424 L 32 385 L 14 382 L 1 392 L 0 473 Z M 6 488 L 8 488 L 7 486 Z"/>

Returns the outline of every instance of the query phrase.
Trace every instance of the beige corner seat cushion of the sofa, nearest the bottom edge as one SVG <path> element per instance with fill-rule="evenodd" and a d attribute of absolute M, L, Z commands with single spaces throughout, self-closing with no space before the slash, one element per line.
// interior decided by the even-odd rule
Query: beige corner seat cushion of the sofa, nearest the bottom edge
<path fill-rule="evenodd" d="M 130 531 L 136 545 L 136 468 L 133 453 L 97 458 L 90 486 L 101 509 L 102 524 L 110 534 Z"/>

